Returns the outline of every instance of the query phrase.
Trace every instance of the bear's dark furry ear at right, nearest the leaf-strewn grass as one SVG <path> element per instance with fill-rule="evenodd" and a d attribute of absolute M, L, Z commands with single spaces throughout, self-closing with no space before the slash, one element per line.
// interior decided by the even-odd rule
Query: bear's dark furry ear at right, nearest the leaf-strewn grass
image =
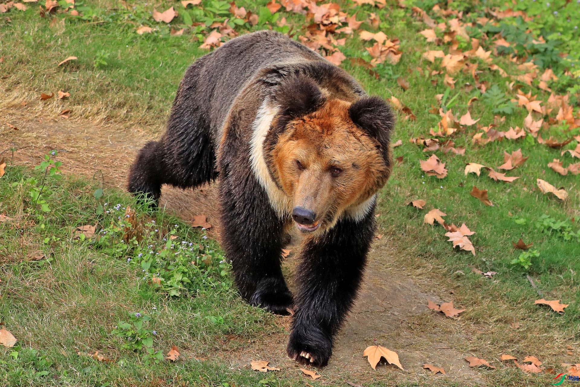
<path fill-rule="evenodd" d="M 389 105 L 379 97 L 364 97 L 351 104 L 350 119 L 369 136 L 378 140 L 383 155 L 388 158 L 391 131 L 395 117 Z M 387 161 L 387 164 L 389 160 Z"/>

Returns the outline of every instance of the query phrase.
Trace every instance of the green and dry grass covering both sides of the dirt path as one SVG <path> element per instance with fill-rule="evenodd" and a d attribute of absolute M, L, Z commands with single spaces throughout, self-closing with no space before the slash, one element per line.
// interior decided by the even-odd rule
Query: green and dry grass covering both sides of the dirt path
<path fill-rule="evenodd" d="M 258 12 L 259 6 L 265 3 L 237 2 L 237 5 Z M 434 2 L 414 3 L 429 10 Z M 458 6 L 465 5 L 464 2 L 457 3 Z M 347 9 L 346 5 L 351 3 L 341 1 L 339 4 L 342 9 Z M 200 35 L 209 29 L 172 36 L 169 27 L 153 23 L 148 17 L 154 4 L 135 2 L 134 5 L 134 10 L 127 10 L 112 9 L 111 3 L 107 2 L 81 4 L 79 6 L 90 6 L 90 12 L 95 15 L 93 19 L 78 20 L 57 15 L 57 22 L 50 18 L 40 19 L 32 6 L 26 12 L 11 11 L 10 23 L 6 19 L 0 21 L 0 41 L 12 43 L 0 46 L 0 57 L 4 58 L 0 63 L 3 73 L 0 92 L 4 96 L 0 102 L 3 113 L 0 114 L 5 118 L 2 121 L 10 122 L 11 118 L 23 115 L 57 117 L 61 110 L 70 108 L 72 120 L 116 122 L 158 133 L 185 68 L 207 52 L 198 46 Z M 204 1 L 204 5 L 210 8 L 208 2 Z M 157 9 L 161 7 L 157 5 Z M 580 256 L 580 244 L 565 240 L 561 233 L 536 223 L 543 223 L 542 217 L 548 216 L 556 222 L 568 222 L 571 229 L 578 232 L 580 227 L 574 221 L 580 217 L 578 177 L 570 174 L 560 176 L 547 167 L 553 158 L 564 160 L 564 165 L 577 159 L 561 156 L 559 149 L 538 144 L 530 135 L 519 140 L 477 146 L 471 141 L 478 132 L 474 125 L 454 136 L 455 146 L 466 148 L 465 156 L 435 152 L 445 162 L 447 177 L 426 176 L 419 168 L 419 160 L 426 160 L 430 153 L 409 143 L 409 138 L 427 137 L 430 128 L 437 128 L 440 117 L 429 110 L 432 106 L 438 107 L 434 96 L 445 93 L 447 86 L 444 85 L 444 74 L 430 75 L 430 70 L 440 70 L 440 60 L 432 64 L 421 56 L 427 49 L 442 48 L 426 43 L 425 38 L 417 33 L 426 27 L 422 21 L 412 17 L 409 8 L 397 8 L 394 2 L 383 9 L 369 5 L 356 8 L 360 20 L 374 12 L 380 19 L 378 30 L 388 37 L 400 39 L 403 56 L 398 64 L 380 64 L 375 68 L 379 79 L 349 60 L 342 64 L 367 91 L 385 98 L 396 96 L 417 117 L 416 121 L 408 121 L 400 115 L 394 140 L 401 139 L 403 145 L 394 149 L 394 156 L 402 155 L 404 160 L 395 168 L 389 183 L 380 193 L 378 221 L 381 233 L 397 250 L 397 254 L 389 259 L 408 273 L 436 278 L 441 287 L 453 292 L 449 298 L 454 299 L 455 305 L 467 309 L 462 314 L 462 323 L 472 327 L 473 344 L 466 343 L 465 350 L 485 358 L 498 357 L 503 352 L 536 355 L 559 370 L 561 362 L 572 362 L 570 356 L 565 355 L 564 348 L 567 345 L 577 348 L 580 342 L 580 309 L 576 302 L 580 299 L 580 261 L 576 259 Z M 474 15 L 483 12 L 479 8 L 469 11 Z M 131 16 L 128 16 L 130 12 Z M 305 25 L 302 15 L 283 12 L 283 9 L 281 12 L 301 31 L 300 26 Z M 89 11 L 84 13 L 88 15 Z M 210 16 L 216 20 L 225 17 L 219 12 Z M 182 18 L 180 13 L 173 24 L 179 27 Z M 437 17 L 437 21 L 441 20 Z M 137 35 L 134 31 L 140 24 L 151 24 L 159 30 L 154 34 Z M 275 25 L 260 20 L 256 26 L 245 24 L 237 30 L 258 30 L 269 24 Z M 368 24 L 362 24 L 361 29 L 375 31 Z M 370 57 L 365 46 L 369 44 L 351 38 L 340 49 L 349 58 L 368 61 Z M 447 52 L 447 48 L 443 49 Z M 70 55 L 77 56 L 78 60 L 56 66 Z M 507 57 L 493 56 L 493 60 L 508 74 L 522 73 Z M 497 86 L 507 100 L 515 98 L 515 89 L 510 89 L 509 82 L 506 82 L 511 79 L 489 70 L 481 60 L 470 61 L 478 63 L 479 70 L 482 70 L 480 82 Z M 407 91 L 398 86 L 398 77 L 409 82 Z M 458 116 L 466 113 L 467 102 L 471 97 L 478 97 L 470 107 L 472 117 L 480 118 L 479 123 L 484 126 L 494 122 L 496 114 L 492 110 L 496 101 L 486 99 L 477 88 L 467 86 L 473 84 L 469 73 L 460 72 L 453 77 L 455 88 L 449 91 L 449 98 L 457 96 L 452 111 Z M 435 85 L 433 81 L 437 81 Z M 533 86 L 519 85 L 524 92 L 537 94 L 544 103 L 548 99 L 549 93 Z M 70 99 L 45 102 L 37 99 L 40 92 L 56 93 L 58 90 L 70 92 Z M 564 91 L 559 89 L 560 93 Z M 21 107 L 21 102 L 26 102 L 26 107 Z M 524 108 L 515 107 L 513 113 L 505 114 L 505 122 L 495 129 L 506 131 L 510 126 L 521 127 L 525 115 Z M 544 138 L 548 138 L 548 133 L 564 139 L 578 135 L 578 129 L 568 131 L 563 125 L 554 124 L 549 129 L 542 129 Z M 572 142 L 564 149 L 573 149 L 574 146 L 575 142 Z M 523 166 L 507 173 L 520 176 L 513 183 L 495 182 L 484 171 L 481 176 L 463 173 L 466 162 L 497 169 L 503 163 L 503 151 L 511 153 L 520 148 L 529 158 Z M 537 178 L 564 187 L 570 197 L 561 202 L 542 194 L 536 187 Z M 219 263 L 223 257 L 215 242 L 204 240 L 203 233 L 189 229 L 179 219 L 164 212 L 148 213 L 120 191 L 107 189 L 102 198 L 96 199 L 93 194 L 98 186 L 74 177 L 50 179 L 45 196 L 50 211 L 43 212 L 39 206 L 32 205 L 30 198 L 31 188 L 39 187 L 41 180 L 41 172 L 21 168 L 10 168 L 1 180 L 0 214 L 17 219 L 17 223 L 0 223 L 0 276 L 3 284 L 0 320 L 12 332 L 19 332 L 19 343 L 11 350 L 0 350 L 0 364 L 3 370 L 7 370 L 0 374 L 0 384 L 122 386 L 147 383 L 154 386 L 162 383 L 186 385 L 195 381 L 194 385 L 226 386 L 258 385 L 263 381 L 262 384 L 266 385 L 303 385 L 291 375 L 257 375 L 253 371 L 231 370 L 211 357 L 206 361 L 194 359 L 219 351 L 224 341 L 229 349 L 243 348 L 248 339 L 281 330 L 273 316 L 250 308 L 238 298 L 231 288 L 229 275 L 222 275 L 223 270 L 227 272 L 227 267 L 220 267 L 224 265 Z M 471 197 L 469 192 L 473 186 L 488 190 L 494 207 L 485 206 Z M 418 198 L 427 201 L 425 209 L 407 205 Z M 121 208 L 136 208 L 145 223 L 151 226 L 150 220 L 155 220 L 165 237 L 173 231 L 179 241 L 209 246 L 206 249 L 215 252 L 211 265 L 201 272 L 185 273 L 193 280 L 192 284 L 175 286 L 170 284 L 173 276 L 183 273 L 179 268 L 176 272 L 161 267 L 160 270 L 165 270 L 165 277 L 158 286 L 151 282 L 151 277 L 142 277 L 144 261 L 137 259 L 137 255 L 142 254 L 140 248 L 143 244 L 129 249 L 119 247 L 119 243 L 99 244 L 73 239 L 71 235 L 75 226 L 99 222 L 111 233 L 119 233 L 118 242 L 124 227 L 107 218 L 106 212 L 102 211 L 104 202 L 119 203 Z M 446 222 L 458 225 L 465 222 L 476 232 L 470 237 L 476 248 L 475 256 L 454 251 L 444 237 L 442 227 L 423 224 L 423 215 L 432 208 L 445 212 Z M 119 214 L 125 213 L 119 211 Z M 110 226 L 111 220 L 118 229 Z M 521 252 L 513 249 L 512 242 L 520 237 L 526 243 L 533 243 L 532 249 L 539 252 L 538 257 L 531 259 L 529 269 L 511 263 Z M 157 235 L 148 238 L 160 246 L 164 243 Z M 46 259 L 31 260 L 30 256 L 37 252 L 45 254 Z M 132 258 L 132 262 L 127 262 L 127 258 Z M 472 267 L 498 274 L 492 280 L 483 279 L 471 272 Z M 570 303 L 563 316 L 534 305 L 534 299 L 542 297 L 531 286 L 528 276 L 543 298 Z M 201 277 L 205 279 L 198 281 Z M 170 296 L 172 290 L 181 295 Z M 159 332 L 153 338 L 154 350 L 166 352 L 172 345 L 177 345 L 188 360 L 175 364 L 150 360 L 144 367 L 146 353 L 120 349 L 122 340 L 113 334 L 113 327 L 120 320 L 127 321 L 135 316 L 136 312 L 151 317 L 151 321 L 145 324 L 147 330 Z M 523 328 L 514 329 L 514 323 Z M 415 321 L 409 319 L 408 324 L 414 327 L 412 332 L 417 337 L 435 328 L 421 317 Z M 230 340 L 231 337 L 236 339 Z M 397 341 L 395 334 L 386 335 L 386 338 Z M 84 346 L 78 343 L 84 343 Z M 415 345 L 422 344 L 418 341 Z M 101 363 L 76 354 L 95 350 L 106 353 L 114 363 Z M 193 357 L 189 359 L 189 356 Z M 494 374 L 485 374 L 485 379 L 490 385 L 520 385 L 524 382 L 536 385 L 539 381 L 532 376 L 523 381 L 523 374 L 516 371 L 503 368 Z M 390 385 L 387 380 L 372 383 Z M 392 383 L 405 385 L 401 381 Z M 455 385 L 451 381 L 441 383 Z M 422 385 L 421 382 L 417 384 Z"/>

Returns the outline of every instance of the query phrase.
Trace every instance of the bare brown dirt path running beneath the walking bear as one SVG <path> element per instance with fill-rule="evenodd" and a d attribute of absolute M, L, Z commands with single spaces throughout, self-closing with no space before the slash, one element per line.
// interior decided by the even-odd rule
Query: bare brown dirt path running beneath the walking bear
<path fill-rule="evenodd" d="M 18 131 L 3 125 L 17 126 Z M 59 120 L 29 121 L 11 115 L 0 121 L 0 151 L 10 147 L 17 151 L 3 157 L 12 164 L 37 165 L 44 154 L 59 151 L 63 172 L 91 178 L 103 173 L 106 186 L 125 187 L 128 167 L 135 153 L 153 139 L 146 132 L 114 126 L 96 126 L 90 122 Z M 99 172 L 100 171 L 100 172 Z M 184 220 L 206 214 L 211 223 L 218 222 L 215 187 L 179 190 L 164 187 L 161 206 L 176 212 Z M 469 331 L 461 320 L 445 319 L 429 311 L 427 299 L 449 301 L 451 296 L 412 267 L 395 266 L 390 257 L 398 254 L 389 240 L 376 240 L 369 256 L 369 267 L 360 296 L 338 340 L 328 367 L 321 371 L 323 381 L 364 385 L 371 380 L 408 381 L 437 385 L 437 378 L 447 378 L 462 385 L 485 385 L 477 370 L 467 367 L 463 357 L 469 345 Z M 293 252 L 295 246 L 289 247 Z M 296 259 L 291 254 L 284 262 L 292 272 Z M 437 290 L 434 292 L 433 290 Z M 220 356 L 231 367 L 248 367 L 250 360 L 270 360 L 284 372 L 298 368 L 285 354 L 290 319 L 280 317 L 285 332 L 271 334 L 245 346 L 243 350 L 224 350 Z M 241 338 L 243 339 L 243 338 Z M 405 372 L 394 366 L 369 367 L 362 352 L 369 345 L 384 345 L 396 350 Z M 201 354 L 200 354 L 201 355 Z M 424 363 L 443 366 L 445 376 L 431 376 L 421 367 Z"/>

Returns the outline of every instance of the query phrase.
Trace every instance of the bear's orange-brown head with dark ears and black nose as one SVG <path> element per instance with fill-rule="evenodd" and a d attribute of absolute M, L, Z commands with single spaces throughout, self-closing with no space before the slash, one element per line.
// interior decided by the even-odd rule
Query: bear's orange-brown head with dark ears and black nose
<path fill-rule="evenodd" d="M 361 218 L 391 172 L 394 116 L 378 97 L 332 98 L 296 75 L 277 88 L 280 113 L 264 142 L 270 175 L 305 233 L 324 233 L 342 215 Z"/>

